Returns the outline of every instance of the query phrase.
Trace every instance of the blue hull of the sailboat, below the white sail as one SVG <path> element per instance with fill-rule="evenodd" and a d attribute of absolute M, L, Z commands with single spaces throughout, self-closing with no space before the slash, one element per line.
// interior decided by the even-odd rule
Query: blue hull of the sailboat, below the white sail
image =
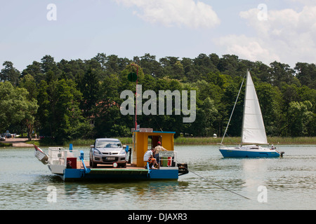
<path fill-rule="evenodd" d="M 246 151 L 240 149 L 220 149 L 224 158 L 276 158 L 279 157 L 277 151 Z"/>

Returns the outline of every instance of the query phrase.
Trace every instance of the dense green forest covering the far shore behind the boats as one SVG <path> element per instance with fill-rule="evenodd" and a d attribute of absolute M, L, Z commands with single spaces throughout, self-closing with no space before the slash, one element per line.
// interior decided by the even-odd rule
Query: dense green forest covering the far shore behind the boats
<path fill-rule="evenodd" d="M 45 55 L 23 71 L 4 62 L 0 73 L 0 132 L 34 132 L 56 142 L 78 138 L 129 137 L 133 116 L 122 116 L 124 90 L 136 91 L 128 74 L 136 72 L 145 90 L 196 90 L 194 123 L 183 116 L 137 117 L 140 127 L 194 137 L 222 136 L 246 69 L 254 80 L 268 136 L 315 136 L 316 65 L 251 62 L 236 55 L 200 54 L 194 59 L 145 54 L 133 60 L 98 53 L 91 59 Z M 229 136 L 240 136 L 241 93 Z M 145 100 L 144 100 L 145 101 Z"/>

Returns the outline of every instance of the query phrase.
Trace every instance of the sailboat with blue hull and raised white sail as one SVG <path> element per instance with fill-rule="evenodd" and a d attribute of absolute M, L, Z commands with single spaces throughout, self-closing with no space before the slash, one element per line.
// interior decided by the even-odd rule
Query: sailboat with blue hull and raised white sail
<path fill-rule="evenodd" d="M 242 82 L 242 85 L 243 83 L 244 80 Z M 237 99 L 239 97 L 240 91 L 242 90 L 242 85 L 240 86 Z M 235 106 L 237 103 L 237 99 L 235 102 Z M 234 112 L 234 109 L 232 110 L 232 113 Z M 231 118 L 232 115 L 230 116 L 230 120 Z M 230 123 L 230 120 L 228 121 L 228 125 Z M 228 125 L 226 127 L 225 134 L 228 130 Z M 242 120 L 242 141 L 240 146 L 231 148 L 223 146 L 225 134 L 223 135 L 223 139 L 220 143 L 219 149 L 224 158 L 270 158 L 283 155 L 283 153 L 277 152 L 273 145 L 271 148 L 260 146 L 269 144 L 267 136 L 265 134 L 265 125 L 263 123 L 256 89 L 248 70 L 246 72 L 244 116 Z"/>

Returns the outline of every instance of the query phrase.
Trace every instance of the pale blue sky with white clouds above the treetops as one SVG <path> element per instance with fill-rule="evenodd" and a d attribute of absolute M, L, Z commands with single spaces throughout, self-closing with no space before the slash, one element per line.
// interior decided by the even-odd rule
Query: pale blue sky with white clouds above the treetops
<path fill-rule="evenodd" d="M 98 52 L 315 63 L 316 1 L 0 0 L 0 69 Z"/>

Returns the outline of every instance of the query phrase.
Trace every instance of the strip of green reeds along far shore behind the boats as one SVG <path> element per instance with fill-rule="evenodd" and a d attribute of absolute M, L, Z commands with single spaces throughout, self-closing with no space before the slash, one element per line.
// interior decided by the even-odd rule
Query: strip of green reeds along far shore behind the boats
<path fill-rule="evenodd" d="M 124 145 L 132 145 L 133 139 L 131 137 L 116 137 Z M 65 142 L 64 146 L 90 146 L 95 139 L 77 139 L 70 142 Z M 213 137 L 178 137 L 174 139 L 175 145 L 216 145 L 220 144 L 221 138 Z M 150 142 L 150 141 L 149 141 Z M 316 137 L 268 137 L 269 144 L 280 145 L 316 145 Z M 225 145 L 239 145 L 240 137 L 226 137 L 223 141 Z"/>

